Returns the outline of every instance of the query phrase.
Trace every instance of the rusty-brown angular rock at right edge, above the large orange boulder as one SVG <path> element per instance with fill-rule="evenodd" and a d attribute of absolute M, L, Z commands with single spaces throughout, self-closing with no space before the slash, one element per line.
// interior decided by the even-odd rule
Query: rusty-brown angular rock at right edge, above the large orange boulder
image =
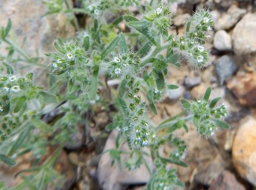
<path fill-rule="evenodd" d="M 256 106 L 256 72 L 238 73 L 227 81 L 227 88 L 239 99 L 242 106 Z"/>

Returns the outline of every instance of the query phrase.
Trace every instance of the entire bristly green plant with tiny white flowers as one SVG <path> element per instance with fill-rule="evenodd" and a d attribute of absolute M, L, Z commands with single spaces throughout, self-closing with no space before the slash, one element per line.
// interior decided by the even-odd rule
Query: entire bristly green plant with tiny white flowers
<path fill-rule="evenodd" d="M 176 170 L 168 163 L 187 166 L 184 163 L 186 144 L 173 131 L 183 128 L 188 132 L 187 122 L 192 121 L 199 138 L 208 138 L 218 127 L 228 128 L 224 121 L 228 111 L 224 105 L 217 106 L 220 98 L 209 100 L 211 89 L 208 88 L 201 99 L 181 99 L 183 111 L 161 124 L 154 124 L 148 113 L 157 115 L 155 103 L 162 100 L 167 90 L 179 88 L 165 81 L 170 64 L 180 68 L 182 59 L 196 69 L 207 64 L 209 51 L 204 44 L 214 24 L 210 12 L 199 9 L 193 13 L 184 26 L 184 34 L 176 36 L 169 32 L 173 17 L 169 4 L 161 1 L 151 1 L 145 7 L 136 0 L 81 1 L 81 8 L 72 8 L 63 0 L 44 3 L 48 6 L 46 15 L 70 15 L 69 22 L 78 32 L 75 39 L 56 39 L 56 51 L 46 54 L 50 58 L 47 69 L 51 73 L 50 88 L 46 90 L 34 84 L 32 73 L 21 76 L 15 72 L 13 68 L 19 61 L 43 65 L 8 38 L 10 20 L 1 29 L 1 42 L 12 51 L 1 56 L 0 159 L 15 166 L 15 158 L 31 152 L 35 163 L 39 163 L 47 146 L 58 147 L 43 164 L 30 170 L 31 175 L 23 175 L 23 181 L 13 188 L 44 189 L 61 181 L 52 169 L 60 150 L 67 141 L 72 141 L 78 124 L 86 128 L 89 121 L 84 113 L 93 112 L 97 106 L 109 111 L 108 105 L 115 111 L 105 130 L 118 131 L 116 148 L 105 153 L 111 156 L 112 164 L 118 164 L 120 170 L 124 167 L 136 170 L 145 164 L 151 176 L 147 189 L 182 188 Z M 134 16 L 129 7 L 137 7 L 142 16 Z M 109 11 L 116 14 L 112 21 L 104 19 Z M 90 18 L 84 29 L 74 13 Z M 125 22 L 129 29 L 121 32 L 120 22 Z M 107 82 L 110 79 L 118 79 L 117 89 L 110 89 Z M 42 118 L 49 104 L 61 114 L 45 122 Z M 126 142 L 129 151 L 121 149 Z M 160 153 L 160 147 L 165 145 L 173 147 L 169 157 Z M 145 147 L 150 153 L 145 153 Z M 123 154 L 127 155 L 125 164 L 121 163 Z M 145 157 L 151 157 L 153 168 L 148 166 Z M 27 184 L 28 181 L 31 183 Z"/>

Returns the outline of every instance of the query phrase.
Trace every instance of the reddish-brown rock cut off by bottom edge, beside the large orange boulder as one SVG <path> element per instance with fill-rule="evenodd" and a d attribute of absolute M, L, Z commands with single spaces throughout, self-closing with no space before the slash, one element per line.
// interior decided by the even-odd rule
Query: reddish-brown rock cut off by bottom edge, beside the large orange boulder
<path fill-rule="evenodd" d="M 241 183 L 237 182 L 234 174 L 224 170 L 224 172 L 211 183 L 208 190 L 245 190 L 245 188 Z"/>

